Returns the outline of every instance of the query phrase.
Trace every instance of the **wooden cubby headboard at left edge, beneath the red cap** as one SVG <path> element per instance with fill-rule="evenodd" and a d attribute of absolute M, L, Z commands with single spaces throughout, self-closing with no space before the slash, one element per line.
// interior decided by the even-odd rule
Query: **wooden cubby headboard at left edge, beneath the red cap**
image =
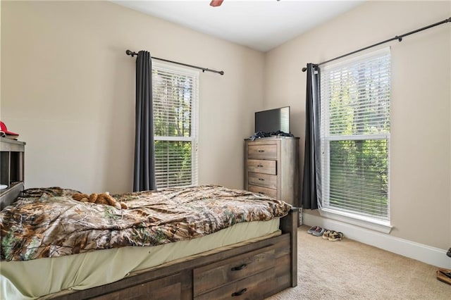
<path fill-rule="evenodd" d="M 25 142 L 0 137 L 0 209 L 11 204 L 23 191 Z"/>

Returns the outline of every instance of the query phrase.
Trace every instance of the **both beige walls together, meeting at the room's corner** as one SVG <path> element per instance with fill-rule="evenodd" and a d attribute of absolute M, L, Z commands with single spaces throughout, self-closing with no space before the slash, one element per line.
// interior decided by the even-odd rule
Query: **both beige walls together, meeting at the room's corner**
<path fill-rule="evenodd" d="M 27 187 L 127 191 L 135 58 L 125 49 L 224 70 L 201 73 L 199 183 L 240 188 L 254 111 L 290 105 L 304 143 L 307 62 L 444 20 L 450 6 L 369 1 L 261 54 L 108 2 L 1 1 L 0 118 L 27 142 Z M 451 246 L 450 36 L 440 25 L 390 43 L 392 235 L 440 249 Z"/>

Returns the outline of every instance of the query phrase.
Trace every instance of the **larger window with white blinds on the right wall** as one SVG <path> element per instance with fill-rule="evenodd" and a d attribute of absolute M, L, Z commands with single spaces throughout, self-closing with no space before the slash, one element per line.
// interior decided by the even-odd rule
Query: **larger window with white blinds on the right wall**
<path fill-rule="evenodd" d="M 390 224 L 390 49 L 321 68 L 322 208 Z"/>

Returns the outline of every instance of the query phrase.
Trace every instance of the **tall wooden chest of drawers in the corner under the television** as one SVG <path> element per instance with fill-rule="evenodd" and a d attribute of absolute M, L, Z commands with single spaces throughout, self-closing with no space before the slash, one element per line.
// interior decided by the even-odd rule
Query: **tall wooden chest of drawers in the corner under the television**
<path fill-rule="evenodd" d="M 245 139 L 245 189 L 299 206 L 299 137 Z"/>

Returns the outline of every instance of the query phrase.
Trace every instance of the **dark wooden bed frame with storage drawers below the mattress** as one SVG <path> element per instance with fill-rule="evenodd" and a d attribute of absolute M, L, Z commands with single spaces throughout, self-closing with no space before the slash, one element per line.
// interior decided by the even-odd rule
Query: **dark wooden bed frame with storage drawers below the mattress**
<path fill-rule="evenodd" d="M 41 299 L 264 299 L 297 286 L 297 220 L 292 208 L 277 237 Z"/>

